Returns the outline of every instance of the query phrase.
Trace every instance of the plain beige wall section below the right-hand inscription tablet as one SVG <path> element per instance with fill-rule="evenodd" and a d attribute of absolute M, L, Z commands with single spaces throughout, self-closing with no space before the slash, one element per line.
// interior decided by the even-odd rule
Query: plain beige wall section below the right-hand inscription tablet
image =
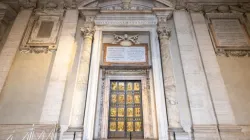
<path fill-rule="evenodd" d="M 236 123 L 250 124 L 250 58 L 217 56 Z"/>

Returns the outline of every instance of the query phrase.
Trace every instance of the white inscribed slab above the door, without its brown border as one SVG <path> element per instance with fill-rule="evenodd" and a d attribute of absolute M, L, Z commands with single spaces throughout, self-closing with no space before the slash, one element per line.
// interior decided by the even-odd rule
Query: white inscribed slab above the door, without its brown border
<path fill-rule="evenodd" d="M 106 62 L 141 63 L 146 62 L 145 47 L 107 47 Z"/>

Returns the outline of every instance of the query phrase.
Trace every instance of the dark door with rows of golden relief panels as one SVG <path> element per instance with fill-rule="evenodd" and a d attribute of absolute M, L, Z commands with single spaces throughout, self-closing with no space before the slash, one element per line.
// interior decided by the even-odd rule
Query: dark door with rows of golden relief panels
<path fill-rule="evenodd" d="M 143 138 L 141 81 L 111 81 L 109 138 Z"/>

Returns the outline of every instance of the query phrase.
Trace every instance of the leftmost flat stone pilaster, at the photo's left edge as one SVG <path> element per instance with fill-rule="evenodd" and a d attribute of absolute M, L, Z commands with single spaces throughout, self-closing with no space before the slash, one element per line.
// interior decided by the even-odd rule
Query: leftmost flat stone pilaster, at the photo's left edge
<path fill-rule="evenodd" d="M 32 10 L 21 10 L 10 30 L 9 36 L 0 54 L 0 92 L 3 89 L 11 65 L 14 61 L 19 44 L 22 40 Z"/>

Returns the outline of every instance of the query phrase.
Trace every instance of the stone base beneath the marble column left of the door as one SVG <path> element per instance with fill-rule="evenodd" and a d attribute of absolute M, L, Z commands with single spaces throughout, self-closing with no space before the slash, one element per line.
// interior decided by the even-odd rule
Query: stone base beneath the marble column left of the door
<path fill-rule="evenodd" d="M 62 140 L 82 140 L 83 128 L 68 128 L 63 133 Z"/>

